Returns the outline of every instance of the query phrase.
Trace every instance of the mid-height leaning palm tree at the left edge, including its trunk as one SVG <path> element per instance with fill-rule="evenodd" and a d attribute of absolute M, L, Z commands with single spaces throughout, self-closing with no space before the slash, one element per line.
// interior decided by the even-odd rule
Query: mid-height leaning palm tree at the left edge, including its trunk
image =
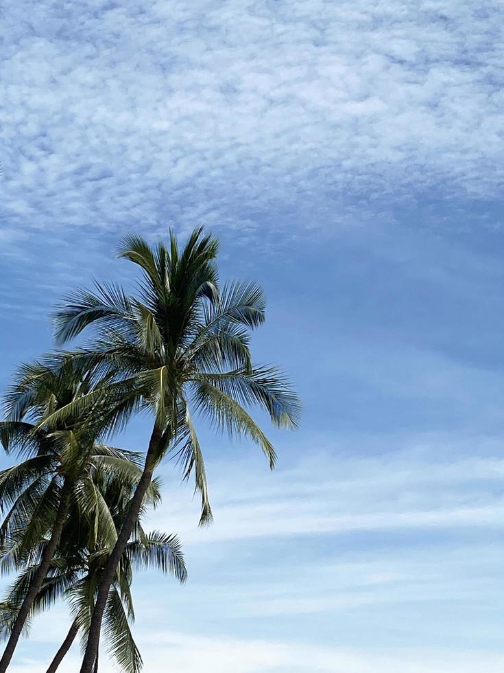
<path fill-rule="evenodd" d="M 51 431 L 40 427 L 47 415 L 96 389 L 95 374 L 83 374 L 70 361 L 58 370 L 32 363 L 21 367 L 5 398 L 7 420 L 0 423 L 0 440 L 8 453 L 17 453 L 23 460 L 0 472 L 0 507 L 5 514 L 0 525 L 3 569 L 33 561 L 32 550 L 40 540 L 44 543 L 38 547 L 36 571 L 29 575 L 30 584 L 16 611 L 0 670 L 5 671 L 12 659 L 70 508 L 78 507 L 85 516 L 93 517 L 95 529 L 98 525 L 108 527 L 114 541 L 117 538 L 107 503 L 90 478 L 91 471 L 99 467 L 120 471 L 130 482 L 139 479 L 139 468 L 132 462 L 134 454 L 101 443 L 109 426 L 99 409 L 86 418 L 69 414 Z"/>

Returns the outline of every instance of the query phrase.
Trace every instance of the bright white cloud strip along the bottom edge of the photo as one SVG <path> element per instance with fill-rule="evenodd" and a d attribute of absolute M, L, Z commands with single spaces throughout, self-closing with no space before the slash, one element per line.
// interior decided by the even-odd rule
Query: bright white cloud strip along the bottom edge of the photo
<path fill-rule="evenodd" d="M 500 673 L 504 658 L 488 652 L 399 650 L 391 654 L 365 649 L 302 646 L 254 639 L 195 637 L 185 633 L 154 632 L 143 640 L 145 670 L 168 668 L 184 673 Z M 104 673 L 112 666 L 100 664 Z M 12 665 L 12 673 L 43 673 L 38 661 Z M 74 673 L 78 659 L 70 657 L 61 673 Z"/>

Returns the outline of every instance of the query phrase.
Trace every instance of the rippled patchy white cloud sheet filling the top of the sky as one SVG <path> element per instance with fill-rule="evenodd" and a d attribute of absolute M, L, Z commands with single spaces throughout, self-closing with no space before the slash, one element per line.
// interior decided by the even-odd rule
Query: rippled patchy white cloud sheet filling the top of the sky
<path fill-rule="evenodd" d="M 330 228 L 352 217 L 349 196 L 493 195 L 503 12 L 496 1 L 7 0 L 3 228 L 156 231 L 168 218 L 246 233 L 308 216 Z"/>

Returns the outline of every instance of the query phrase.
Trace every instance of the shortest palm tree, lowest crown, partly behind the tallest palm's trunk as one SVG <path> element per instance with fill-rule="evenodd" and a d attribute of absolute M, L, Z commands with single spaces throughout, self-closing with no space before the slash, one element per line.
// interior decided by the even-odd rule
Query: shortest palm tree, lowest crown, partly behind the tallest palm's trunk
<path fill-rule="evenodd" d="M 97 469 L 93 471 L 92 479 L 108 503 L 115 525 L 119 526 L 130 501 L 132 485 L 125 483 L 121 472 L 110 474 Z M 143 503 L 143 510 L 149 505 L 155 505 L 158 501 L 160 501 L 160 493 L 157 484 L 154 484 Z M 51 560 L 49 573 L 29 614 L 29 619 L 32 619 L 34 615 L 53 605 L 60 597 L 65 597 L 71 606 L 72 624 L 62 646 L 51 661 L 47 673 L 53 673 L 58 669 L 79 632 L 85 643 L 93 613 L 95 589 L 110 552 L 110 544 L 111 540 L 108 538 L 106 527 L 97 537 L 93 519 L 83 520 L 75 507 L 71 510 L 64 525 L 60 544 Z M 43 545 L 43 542 L 36 546 L 40 545 Z M 34 549 L 33 555 L 40 556 L 40 553 L 37 554 L 37 550 Z M 139 673 L 142 666 L 141 656 L 130 630 L 130 623 L 134 620 L 130 585 L 133 571 L 144 568 L 171 573 L 180 582 L 184 582 L 187 577 L 184 557 L 177 536 L 157 531 L 146 533 L 140 521 L 137 521 L 134 536 L 123 552 L 118 571 L 110 587 L 105 611 L 108 650 L 126 673 Z M 5 597 L 3 611 L 0 612 L 2 635 L 8 635 L 10 632 L 16 612 L 23 602 L 31 584 L 32 575 L 37 569 L 37 563 L 23 567 L 23 571 Z"/>

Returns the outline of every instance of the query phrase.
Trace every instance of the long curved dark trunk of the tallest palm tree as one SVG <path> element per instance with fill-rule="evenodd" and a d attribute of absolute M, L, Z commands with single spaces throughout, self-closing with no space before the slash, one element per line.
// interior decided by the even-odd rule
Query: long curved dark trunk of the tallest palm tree
<path fill-rule="evenodd" d="M 123 551 L 128 544 L 128 540 L 131 537 L 135 521 L 138 518 L 139 512 L 141 510 L 143 498 L 147 492 L 147 488 L 149 488 L 149 484 L 151 483 L 155 467 L 156 449 L 158 448 L 162 437 L 163 433 L 161 433 L 161 431 L 155 427 L 149 440 L 149 448 L 147 450 L 147 455 L 145 456 L 145 466 L 143 468 L 142 476 L 140 477 L 139 483 L 136 485 L 135 492 L 131 499 L 130 509 L 128 510 L 128 514 L 124 520 L 121 532 L 117 537 L 117 543 L 115 543 L 115 547 L 112 549 L 112 553 L 108 557 L 104 571 L 101 574 L 98 584 L 95 609 L 93 610 L 93 615 L 91 617 L 86 652 L 84 653 L 84 659 L 82 660 L 80 673 L 93 673 L 93 665 L 95 663 L 95 657 L 98 651 L 101 620 L 104 616 L 110 585 L 115 578 L 117 566 L 119 565 Z M 2 672 L 0 671 L 0 673 Z"/>

